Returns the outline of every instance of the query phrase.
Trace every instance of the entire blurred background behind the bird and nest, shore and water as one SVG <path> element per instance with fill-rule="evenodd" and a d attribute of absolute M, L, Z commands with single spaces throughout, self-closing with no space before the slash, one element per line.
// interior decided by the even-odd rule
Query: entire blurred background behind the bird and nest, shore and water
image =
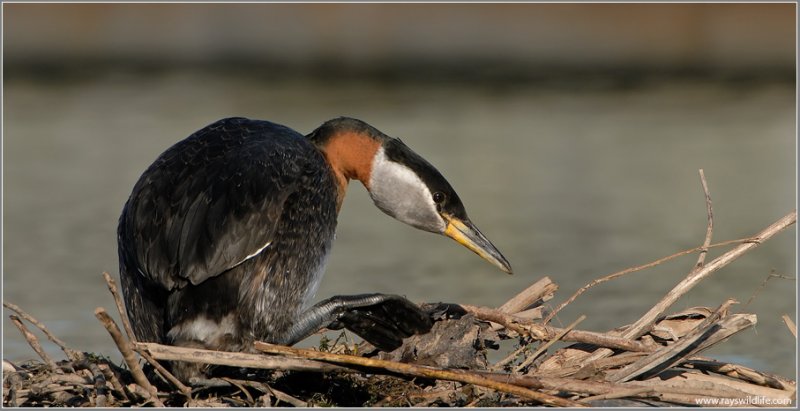
<path fill-rule="evenodd" d="M 308 133 L 347 115 L 401 137 L 515 269 L 391 220 L 354 183 L 317 299 L 498 306 L 550 276 L 558 303 L 700 245 L 700 168 L 715 241 L 753 235 L 796 207 L 794 16 L 793 4 L 4 4 L 3 299 L 73 348 L 116 353 L 93 310 L 115 311 L 101 273 L 117 274 L 122 205 L 163 150 L 227 116 Z M 796 378 L 781 321 L 797 318 L 796 254 L 792 227 L 672 311 L 736 298 L 758 326 L 707 354 Z M 554 324 L 635 321 L 695 260 L 598 286 Z M 34 356 L 4 318 L 3 358 Z"/>

